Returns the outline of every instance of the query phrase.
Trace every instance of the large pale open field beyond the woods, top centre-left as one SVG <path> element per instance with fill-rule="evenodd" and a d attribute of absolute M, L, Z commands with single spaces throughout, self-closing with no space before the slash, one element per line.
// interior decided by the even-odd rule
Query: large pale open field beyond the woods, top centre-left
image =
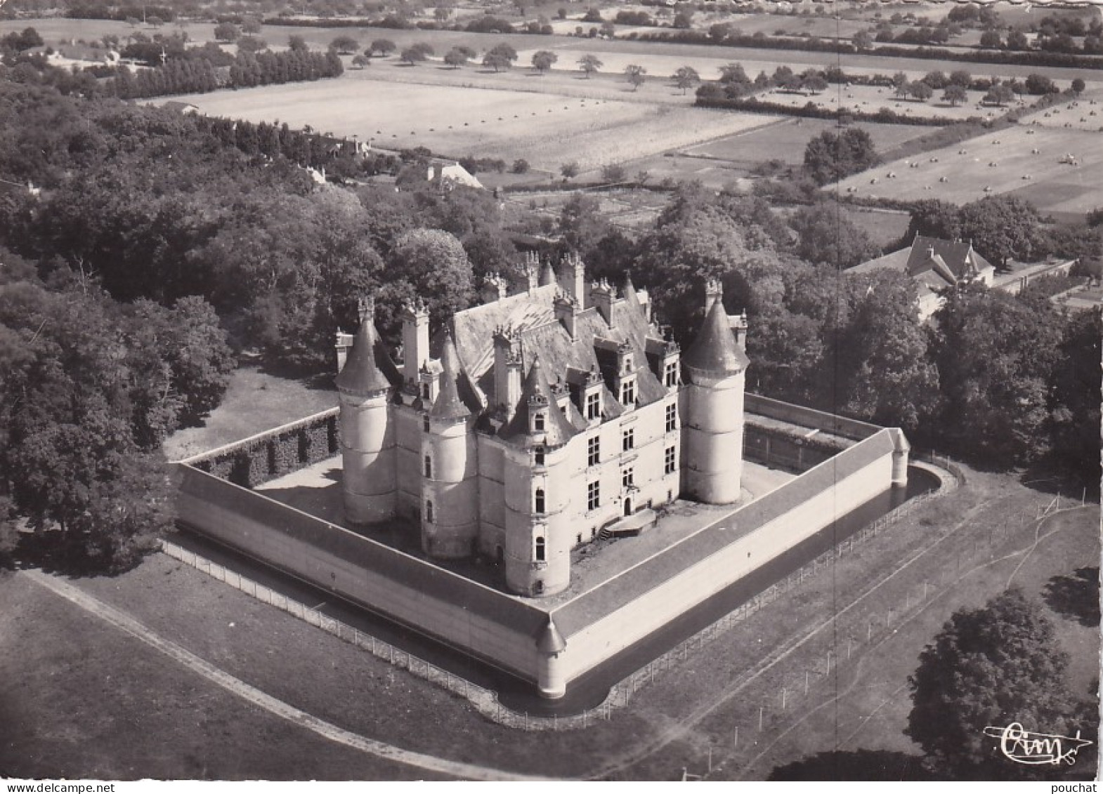
<path fill-rule="evenodd" d="M 588 169 L 634 160 L 772 120 L 690 106 L 351 78 L 179 98 L 212 116 L 309 125 L 384 148 L 424 146 L 507 163 L 524 158 L 549 171 L 571 161 Z"/>

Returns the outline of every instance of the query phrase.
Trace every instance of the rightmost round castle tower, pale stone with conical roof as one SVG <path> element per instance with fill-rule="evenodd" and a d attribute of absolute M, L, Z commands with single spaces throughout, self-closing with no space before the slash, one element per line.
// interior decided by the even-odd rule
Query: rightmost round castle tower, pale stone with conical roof
<path fill-rule="evenodd" d="M 682 356 L 682 491 L 707 504 L 739 500 L 743 469 L 745 318 L 729 318 L 719 285 L 706 288 L 706 316 Z M 737 339 L 739 334 L 739 339 Z"/>

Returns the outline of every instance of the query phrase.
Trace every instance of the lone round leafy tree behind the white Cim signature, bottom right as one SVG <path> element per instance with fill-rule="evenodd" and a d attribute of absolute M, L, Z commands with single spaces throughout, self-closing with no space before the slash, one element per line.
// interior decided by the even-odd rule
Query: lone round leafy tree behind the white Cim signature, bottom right
<path fill-rule="evenodd" d="M 993 752 L 986 726 L 1074 736 L 1069 657 L 1053 624 L 1018 588 L 981 609 L 962 609 L 919 656 L 908 684 L 908 736 L 940 777 L 1000 780 L 1029 774 Z"/>

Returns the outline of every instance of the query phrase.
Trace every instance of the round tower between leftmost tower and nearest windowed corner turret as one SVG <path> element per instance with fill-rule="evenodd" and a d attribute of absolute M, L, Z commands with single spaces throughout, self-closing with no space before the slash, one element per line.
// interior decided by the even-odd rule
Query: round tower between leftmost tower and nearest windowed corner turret
<path fill-rule="evenodd" d="M 440 387 L 427 406 L 421 444 L 421 549 L 430 557 L 470 557 L 479 536 L 479 465 L 471 408 L 463 400 L 467 375 L 451 336 L 440 356 Z"/>

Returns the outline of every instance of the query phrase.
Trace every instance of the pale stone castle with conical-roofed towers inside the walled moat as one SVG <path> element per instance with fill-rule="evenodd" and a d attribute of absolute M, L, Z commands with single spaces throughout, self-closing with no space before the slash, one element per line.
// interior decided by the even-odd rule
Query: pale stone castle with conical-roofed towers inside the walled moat
<path fill-rule="evenodd" d="M 588 283 L 575 255 L 525 269 L 523 291 L 488 279 L 431 339 L 408 307 L 398 363 L 362 301 L 336 386 L 346 519 L 418 522 L 430 558 L 495 560 L 511 592 L 542 597 L 602 529 L 679 496 L 739 498 L 747 320 L 710 282 L 682 353 L 631 281 Z"/>

